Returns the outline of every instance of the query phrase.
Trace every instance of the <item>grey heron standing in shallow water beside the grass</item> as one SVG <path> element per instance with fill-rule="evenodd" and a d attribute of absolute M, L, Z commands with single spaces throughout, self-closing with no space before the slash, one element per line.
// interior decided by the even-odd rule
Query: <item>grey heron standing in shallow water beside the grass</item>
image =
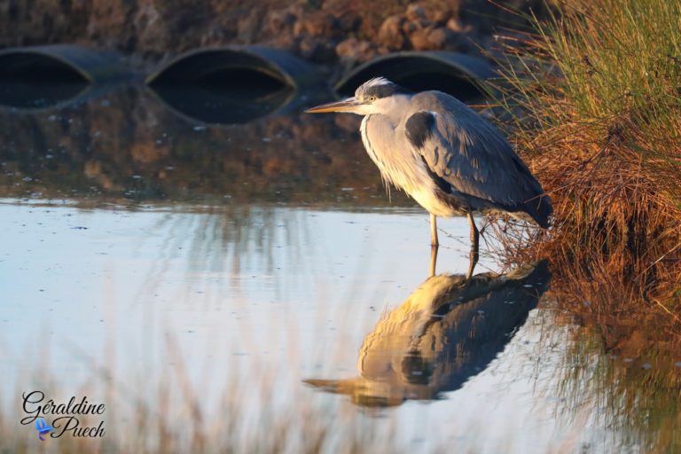
<path fill-rule="evenodd" d="M 407 192 L 430 213 L 435 251 L 436 216 L 467 216 L 469 276 L 478 261 L 480 237 L 474 213 L 505 212 L 549 226 L 551 199 L 528 166 L 498 129 L 457 98 L 442 91 L 412 93 L 376 77 L 360 85 L 354 97 L 306 112 L 364 115 L 364 148 L 386 184 Z"/>

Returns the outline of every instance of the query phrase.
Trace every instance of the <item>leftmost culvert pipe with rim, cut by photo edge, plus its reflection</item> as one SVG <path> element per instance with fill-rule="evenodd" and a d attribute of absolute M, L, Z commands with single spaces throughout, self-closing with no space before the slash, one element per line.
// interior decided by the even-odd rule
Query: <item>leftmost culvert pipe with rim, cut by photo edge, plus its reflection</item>
<path fill-rule="evenodd" d="M 0 106 L 35 112 L 100 96 L 129 78 L 118 54 L 58 44 L 0 51 Z"/>

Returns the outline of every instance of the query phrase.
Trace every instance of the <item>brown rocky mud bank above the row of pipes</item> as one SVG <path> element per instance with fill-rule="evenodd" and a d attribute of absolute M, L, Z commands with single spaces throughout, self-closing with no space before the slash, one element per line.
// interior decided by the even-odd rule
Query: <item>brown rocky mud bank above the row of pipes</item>
<path fill-rule="evenodd" d="M 138 65 L 190 49 L 264 44 L 342 73 L 392 51 L 495 49 L 495 33 L 523 27 L 505 8 L 537 0 L 10 0 L 0 4 L 0 47 L 80 43 L 115 49 Z"/>

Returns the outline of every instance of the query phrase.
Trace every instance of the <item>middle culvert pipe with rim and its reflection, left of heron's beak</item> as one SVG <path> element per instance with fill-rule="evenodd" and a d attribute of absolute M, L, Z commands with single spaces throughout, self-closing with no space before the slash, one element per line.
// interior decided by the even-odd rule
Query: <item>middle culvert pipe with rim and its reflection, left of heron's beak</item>
<path fill-rule="evenodd" d="M 176 114 L 201 123 L 244 123 L 291 110 L 317 71 L 286 51 L 260 46 L 187 52 L 151 74 L 147 84 Z"/>

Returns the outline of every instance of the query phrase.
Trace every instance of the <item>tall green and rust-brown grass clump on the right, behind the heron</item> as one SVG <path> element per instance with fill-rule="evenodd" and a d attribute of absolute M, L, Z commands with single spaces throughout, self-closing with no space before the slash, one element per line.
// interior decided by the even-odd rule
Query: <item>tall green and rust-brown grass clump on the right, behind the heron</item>
<path fill-rule="evenodd" d="M 541 250 L 574 282 L 667 308 L 681 287 L 681 3 L 568 0 L 533 19 L 502 98 L 555 228 L 511 254 Z"/>

